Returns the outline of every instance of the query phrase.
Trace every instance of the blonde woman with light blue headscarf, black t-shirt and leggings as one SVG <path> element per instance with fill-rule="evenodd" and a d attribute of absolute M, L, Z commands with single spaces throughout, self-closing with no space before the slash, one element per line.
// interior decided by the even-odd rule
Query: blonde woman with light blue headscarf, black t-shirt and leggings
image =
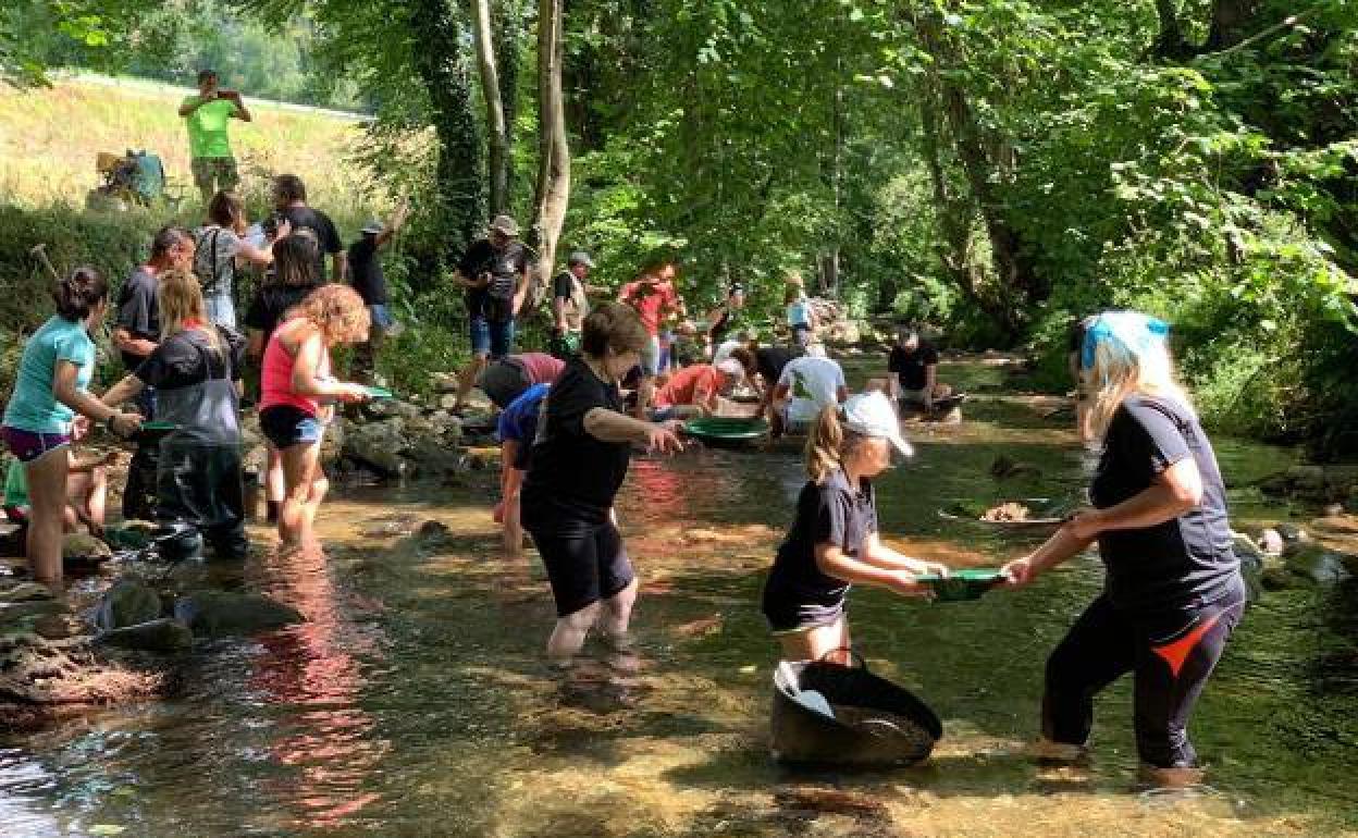
<path fill-rule="evenodd" d="M 1175 383 L 1167 335 L 1164 322 L 1137 312 L 1089 323 L 1086 421 L 1103 441 L 1089 488 L 1095 508 L 1005 570 L 1024 585 L 1097 542 L 1108 573 L 1104 592 L 1047 659 L 1040 752 L 1078 757 L 1095 695 L 1131 672 L 1143 774 L 1184 785 L 1202 774 L 1188 716 L 1240 622 L 1245 587 L 1217 458 Z"/>

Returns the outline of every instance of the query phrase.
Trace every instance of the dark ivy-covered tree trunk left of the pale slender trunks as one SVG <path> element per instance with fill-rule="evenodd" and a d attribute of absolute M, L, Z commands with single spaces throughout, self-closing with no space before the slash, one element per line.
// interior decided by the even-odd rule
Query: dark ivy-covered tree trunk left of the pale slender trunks
<path fill-rule="evenodd" d="M 485 182 L 479 126 L 471 96 L 466 27 L 449 0 L 411 0 L 418 72 L 429 91 L 439 145 L 437 216 L 448 249 L 462 253 L 485 223 Z"/>

